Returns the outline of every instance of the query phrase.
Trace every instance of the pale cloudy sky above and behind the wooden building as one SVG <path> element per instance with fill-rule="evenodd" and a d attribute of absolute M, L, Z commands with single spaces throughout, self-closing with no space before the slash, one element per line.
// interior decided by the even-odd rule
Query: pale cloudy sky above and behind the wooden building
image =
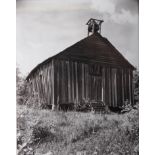
<path fill-rule="evenodd" d="M 90 18 L 104 20 L 106 37 L 139 67 L 138 0 L 16 0 L 16 61 L 23 75 L 87 37 Z"/>

